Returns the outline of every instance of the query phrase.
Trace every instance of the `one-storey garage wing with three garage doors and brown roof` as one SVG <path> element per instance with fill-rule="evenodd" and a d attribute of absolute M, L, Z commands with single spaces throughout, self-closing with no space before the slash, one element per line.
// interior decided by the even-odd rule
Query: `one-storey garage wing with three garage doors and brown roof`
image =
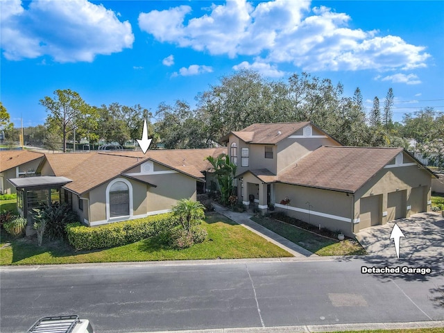
<path fill-rule="evenodd" d="M 436 177 L 403 148 L 322 146 L 278 176 L 259 171 L 248 172 L 257 182 L 274 183 L 279 210 L 350 237 L 427 212 Z M 291 203 L 280 204 L 283 198 Z"/>

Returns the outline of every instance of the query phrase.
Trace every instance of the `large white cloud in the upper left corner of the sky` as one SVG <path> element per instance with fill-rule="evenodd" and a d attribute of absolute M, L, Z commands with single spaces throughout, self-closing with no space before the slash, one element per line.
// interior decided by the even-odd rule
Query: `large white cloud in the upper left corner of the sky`
<path fill-rule="evenodd" d="M 56 62 L 92 62 L 133 42 L 128 21 L 87 0 L 35 0 L 26 10 L 20 1 L 2 2 L 1 49 L 8 60 L 48 55 Z"/>

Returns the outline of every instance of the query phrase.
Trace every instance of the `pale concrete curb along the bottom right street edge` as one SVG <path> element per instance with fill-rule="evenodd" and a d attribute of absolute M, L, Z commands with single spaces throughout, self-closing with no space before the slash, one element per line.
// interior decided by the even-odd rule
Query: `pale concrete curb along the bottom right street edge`
<path fill-rule="evenodd" d="M 444 321 L 415 321 L 410 323 L 352 323 L 332 325 L 298 325 L 277 327 L 238 327 L 238 328 L 215 328 L 205 330 L 178 330 L 178 331 L 146 331 L 133 333 L 288 333 L 288 332 L 338 332 L 338 331 L 361 331 L 361 330 L 397 330 L 415 328 L 444 327 Z"/>

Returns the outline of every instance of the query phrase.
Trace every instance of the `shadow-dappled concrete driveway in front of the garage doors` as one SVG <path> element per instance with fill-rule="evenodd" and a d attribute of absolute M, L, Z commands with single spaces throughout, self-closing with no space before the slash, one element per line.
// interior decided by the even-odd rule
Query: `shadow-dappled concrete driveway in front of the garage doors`
<path fill-rule="evenodd" d="M 444 218 L 434 212 L 365 228 L 356 237 L 369 255 L 396 258 L 393 239 L 390 239 L 395 223 L 405 236 L 400 240 L 400 259 L 444 257 Z"/>

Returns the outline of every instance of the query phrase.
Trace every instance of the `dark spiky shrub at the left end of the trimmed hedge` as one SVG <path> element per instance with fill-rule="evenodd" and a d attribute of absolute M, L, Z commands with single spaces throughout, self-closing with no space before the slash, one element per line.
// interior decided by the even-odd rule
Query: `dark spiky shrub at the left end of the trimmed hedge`
<path fill-rule="evenodd" d="M 49 239 L 66 239 L 66 226 L 68 223 L 78 221 L 78 215 L 67 204 L 53 203 L 34 208 L 35 221 L 46 221 L 46 233 Z"/>

